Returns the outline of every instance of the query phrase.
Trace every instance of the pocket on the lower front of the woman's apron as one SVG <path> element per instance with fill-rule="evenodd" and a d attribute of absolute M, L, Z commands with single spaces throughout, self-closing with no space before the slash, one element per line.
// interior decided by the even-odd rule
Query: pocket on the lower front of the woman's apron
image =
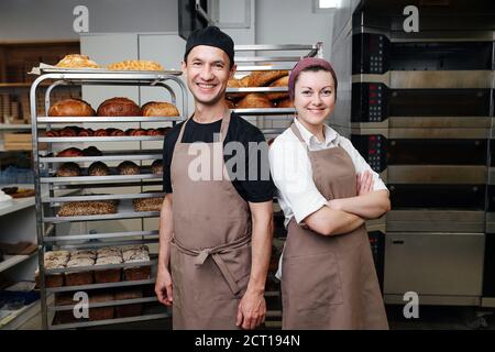
<path fill-rule="evenodd" d="M 343 302 L 339 263 L 333 252 L 284 257 L 284 262 L 282 280 L 286 301 L 294 309 L 327 316 L 330 305 Z"/>

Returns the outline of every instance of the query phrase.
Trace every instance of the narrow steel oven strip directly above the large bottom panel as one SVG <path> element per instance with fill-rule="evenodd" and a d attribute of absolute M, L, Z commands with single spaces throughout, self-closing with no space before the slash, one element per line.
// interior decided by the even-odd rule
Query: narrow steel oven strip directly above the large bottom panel
<path fill-rule="evenodd" d="M 393 209 L 386 217 L 387 231 L 484 232 L 483 210 Z"/>

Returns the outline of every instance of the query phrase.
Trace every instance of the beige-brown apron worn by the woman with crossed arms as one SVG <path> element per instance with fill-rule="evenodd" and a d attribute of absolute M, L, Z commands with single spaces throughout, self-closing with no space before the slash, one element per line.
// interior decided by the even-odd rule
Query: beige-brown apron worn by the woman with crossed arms
<path fill-rule="evenodd" d="M 306 146 L 299 130 L 292 130 Z M 356 196 L 355 168 L 340 146 L 308 151 L 314 180 L 326 199 Z M 288 224 L 282 264 L 284 329 L 388 329 L 364 226 L 323 237 Z"/>

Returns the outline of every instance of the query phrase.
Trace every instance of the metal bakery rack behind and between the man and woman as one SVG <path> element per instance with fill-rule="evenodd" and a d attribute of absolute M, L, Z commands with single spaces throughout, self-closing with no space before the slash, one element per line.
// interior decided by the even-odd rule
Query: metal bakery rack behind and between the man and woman
<path fill-rule="evenodd" d="M 253 72 L 290 70 L 294 65 L 304 57 L 323 57 L 322 50 L 323 44 L 321 42 L 309 45 L 235 45 L 237 73 L 240 73 L 239 76 L 241 77 Z M 287 87 L 244 87 L 227 88 L 227 94 L 267 94 L 287 90 Z M 276 136 L 285 131 L 296 112 L 294 108 L 250 108 L 233 109 L 232 111 L 257 125 L 266 136 Z M 274 212 L 275 222 L 277 224 L 276 228 L 278 229 L 274 237 L 274 245 L 278 248 L 284 243 L 285 229 L 283 227 L 284 215 L 276 202 L 274 202 Z M 268 309 L 266 314 L 267 319 L 265 321 L 266 328 L 282 327 L 282 294 L 279 282 L 274 277 L 274 274 L 275 273 L 268 274 L 268 285 L 265 292 Z"/>

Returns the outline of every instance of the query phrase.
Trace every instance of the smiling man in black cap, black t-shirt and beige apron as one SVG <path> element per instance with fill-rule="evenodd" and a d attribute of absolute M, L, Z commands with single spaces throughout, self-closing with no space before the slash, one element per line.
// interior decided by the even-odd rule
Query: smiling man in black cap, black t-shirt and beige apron
<path fill-rule="evenodd" d="M 174 329 L 254 329 L 266 314 L 274 185 L 263 134 L 226 103 L 233 47 L 216 26 L 189 36 L 183 70 L 195 112 L 164 141 L 155 292 L 173 306 Z"/>

